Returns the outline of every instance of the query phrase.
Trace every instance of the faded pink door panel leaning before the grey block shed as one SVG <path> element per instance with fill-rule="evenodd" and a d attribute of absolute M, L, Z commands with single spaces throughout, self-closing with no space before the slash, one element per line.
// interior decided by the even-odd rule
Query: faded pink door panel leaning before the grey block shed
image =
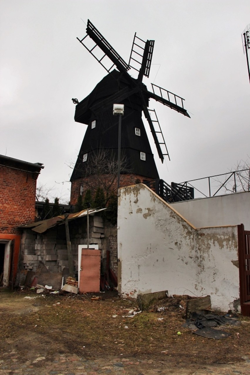
<path fill-rule="evenodd" d="M 82 293 L 100 291 L 101 250 L 81 250 L 81 271 L 79 291 Z"/>

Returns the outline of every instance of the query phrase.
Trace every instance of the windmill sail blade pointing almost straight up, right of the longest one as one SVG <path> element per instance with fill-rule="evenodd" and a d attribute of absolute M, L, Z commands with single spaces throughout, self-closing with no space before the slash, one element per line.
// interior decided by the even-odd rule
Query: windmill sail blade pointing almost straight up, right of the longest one
<path fill-rule="evenodd" d="M 128 65 L 139 73 L 137 78 L 139 82 L 142 82 L 143 75 L 149 77 L 154 43 L 154 40 L 147 40 L 145 42 L 143 39 L 136 36 L 136 33 L 134 34 Z"/>

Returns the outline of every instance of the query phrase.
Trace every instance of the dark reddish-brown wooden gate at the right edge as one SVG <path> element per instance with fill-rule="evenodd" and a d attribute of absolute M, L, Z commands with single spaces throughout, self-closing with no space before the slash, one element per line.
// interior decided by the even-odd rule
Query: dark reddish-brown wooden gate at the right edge
<path fill-rule="evenodd" d="M 239 288 L 242 315 L 250 316 L 250 231 L 238 225 Z"/>

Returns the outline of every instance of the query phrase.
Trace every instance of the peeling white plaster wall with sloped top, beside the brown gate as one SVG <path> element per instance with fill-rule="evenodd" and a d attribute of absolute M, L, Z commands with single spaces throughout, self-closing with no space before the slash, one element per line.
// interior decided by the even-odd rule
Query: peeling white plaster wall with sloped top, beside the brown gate
<path fill-rule="evenodd" d="M 118 203 L 119 293 L 209 294 L 222 311 L 239 298 L 237 227 L 196 230 L 143 184 Z"/>

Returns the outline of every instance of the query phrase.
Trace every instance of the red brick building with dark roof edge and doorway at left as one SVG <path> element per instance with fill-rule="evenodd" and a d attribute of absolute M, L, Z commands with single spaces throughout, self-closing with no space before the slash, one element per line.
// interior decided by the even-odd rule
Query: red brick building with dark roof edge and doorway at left
<path fill-rule="evenodd" d="M 41 163 L 0 155 L 0 286 L 14 285 L 19 227 L 35 220 L 36 180 L 42 168 Z"/>

